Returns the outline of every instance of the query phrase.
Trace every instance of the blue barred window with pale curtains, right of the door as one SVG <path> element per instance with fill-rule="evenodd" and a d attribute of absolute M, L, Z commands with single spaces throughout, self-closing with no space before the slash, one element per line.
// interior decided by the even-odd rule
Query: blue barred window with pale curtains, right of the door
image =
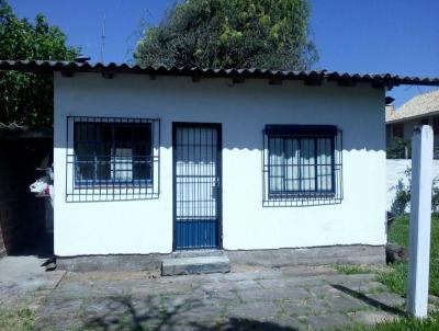
<path fill-rule="evenodd" d="M 330 125 L 267 125 L 263 206 L 315 206 L 342 199 L 342 134 Z"/>

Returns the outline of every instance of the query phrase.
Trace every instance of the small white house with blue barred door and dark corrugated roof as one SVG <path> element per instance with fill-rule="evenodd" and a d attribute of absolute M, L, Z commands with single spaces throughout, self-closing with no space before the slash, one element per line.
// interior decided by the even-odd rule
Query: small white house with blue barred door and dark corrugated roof
<path fill-rule="evenodd" d="M 49 61 L 0 69 L 55 76 L 60 258 L 386 242 L 384 96 L 407 83 L 398 77 Z"/>

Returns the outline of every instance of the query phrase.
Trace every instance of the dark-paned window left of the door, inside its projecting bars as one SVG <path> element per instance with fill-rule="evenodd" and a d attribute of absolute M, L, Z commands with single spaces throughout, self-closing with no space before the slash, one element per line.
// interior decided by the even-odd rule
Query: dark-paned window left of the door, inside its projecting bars
<path fill-rule="evenodd" d="M 151 182 L 150 123 L 75 123 L 75 182 Z"/>

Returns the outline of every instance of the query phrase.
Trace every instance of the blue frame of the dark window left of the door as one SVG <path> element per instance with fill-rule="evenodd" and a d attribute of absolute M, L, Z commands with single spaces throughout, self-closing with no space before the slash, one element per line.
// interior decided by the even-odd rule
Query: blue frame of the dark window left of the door
<path fill-rule="evenodd" d="M 87 125 L 92 125 L 93 126 L 93 140 L 77 140 L 77 126 L 78 125 L 82 125 L 82 124 L 87 124 Z M 113 157 L 113 151 L 116 149 L 115 144 L 116 141 L 121 141 L 121 140 L 115 140 L 114 139 L 114 128 L 115 127 L 130 127 L 131 129 L 133 129 L 136 125 L 137 126 L 149 126 L 149 167 L 150 167 L 150 179 L 144 179 L 144 180 L 135 180 L 134 178 L 130 181 L 130 180 L 116 180 L 116 179 L 108 179 L 108 180 L 99 180 L 97 179 L 98 176 L 98 164 L 99 164 L 99 160 L 97 160 L 97 158 L 99 157 L 97 155 L 97 144 L 98 144 L 98 137 L 97 137 L 97 133 L 98 133 L 98 126 L 111 126 L 111 130 L 112 130 L 112 139 L 111 140 L 102 140 L 101 144 L 111 144 L 110 150 L 111 153 L 109 156 L 101 156 L 104 158 L 110 158 L 109 164 L 110 167 L 115 167 L 116 162 L 115 162 L 115 158 Z M 153 186 L 154 185 L 154 132 L 153 132 L 153 123 L 146 122 L 146 123 L 136 123 L 136 122 L 90 122 L 90 121 L 78 121 L 74 123 L 74 189 L 82 189 L 82 187 L 88 187 L 88 189 L 95 189 L 95 187 L 100 187 L 102 185 L 106 185 L 106 184 L 113 184 L 119 186 L 119 189 L 123 189 L 125 186 L 130 187 L 139 187 L 140 184 L 146 184 L 147 186 Z M 83 179 L 79 179 L 78 176 L 78 164 L 79 163 L 86 163 L 87 161 L 78 161 L 78 153 L 77 153 L 77 145 L 81 144 L 82 141 L 92 141 L 91 144 L 93 145 L 93 161 L 90 161 L 93 163 L 93 180 L 83 180 Z M 127 140 L 128 141 L 128 140 Z M 131 142 L 133 144 L 134 137 L 132 137 Z M 90 144 L 90 142 L 89 142 Z M 134 147 L 135 142 L 132 145 L 132 149 Z M 134 158 L 134 155 L 132 156 L 132 158 Z M 148 162 L 148 161 L 145 161 Z M 133 176 L 133 170 L 134 170 L 134 164 L 136 162 L 132 161 L 132 176 Z M 110 176 L 112 175 L 113 170 L 110 169 Z M 136 185 L 137 184 L 137 185 Z"/>

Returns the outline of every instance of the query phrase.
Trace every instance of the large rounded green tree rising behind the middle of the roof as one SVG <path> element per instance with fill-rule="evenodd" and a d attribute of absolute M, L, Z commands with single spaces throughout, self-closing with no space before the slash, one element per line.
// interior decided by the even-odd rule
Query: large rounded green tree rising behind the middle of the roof
<path fill-rule="evenodd" d="M 187 0 L 148 26 L 134 58 L 143 66 L 309 69 L 307 0 Z"/>

